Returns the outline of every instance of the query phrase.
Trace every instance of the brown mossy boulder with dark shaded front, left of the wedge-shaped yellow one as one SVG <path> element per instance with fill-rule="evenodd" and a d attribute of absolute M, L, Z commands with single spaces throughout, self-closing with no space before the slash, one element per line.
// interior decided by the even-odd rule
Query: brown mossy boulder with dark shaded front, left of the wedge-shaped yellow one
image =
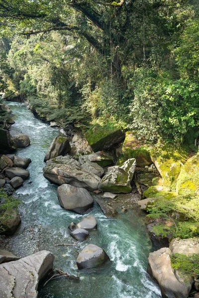
<path fill-rule="evenodd" d="M 150 156 L 150 149 L 141 141 L 138 141 L 132 132 L 126 132 L 122 145 L 121 159 L 124 161 L 129 158 L 135 158 L 138 167 L 145 167 L 153 163 Z"/>

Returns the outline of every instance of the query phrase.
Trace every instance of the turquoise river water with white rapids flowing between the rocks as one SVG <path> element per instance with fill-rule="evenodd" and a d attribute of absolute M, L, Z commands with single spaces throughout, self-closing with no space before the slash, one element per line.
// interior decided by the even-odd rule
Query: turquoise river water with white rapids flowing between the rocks
<path fill-rule="evenodd" d="M 42 174 L 44 155 L 59 130 L 35 119 L 24 104 L 11 102 L 8 105 L 15 115 L 11 133 L 27 134 L 31 141 L 29 147 L 17 150 L 18 156 L 32 160 L 28 167 L 29 179 L 16 191 L 24 203 L 23 225 L 41 226 L 45 231 L 43 247 L 55 255 L 55 267 L 80 277 L 79 282 L 65 278 L 50 281 L 45 287 L 39 288 L 38 297 L 160 298 L 158 286 L 146 274 L 151 242 L 142 219 L 135 212 L 129 211 L 118 219 L 107 219 L 95 205 L 90 214 L 97 219 L 97 231 L 91 232 L 89 238 L 77 246 L 54 245 L 63 242 L 75 243 L 68 233 L 68 225 L 82 219 L 81 215 L 60 207 L 57 187 L 48 182 Z M 89 243 L 104 248 L 110 262 L 98 269 L 79 271 L 76 258 L 80 250 Z"/>

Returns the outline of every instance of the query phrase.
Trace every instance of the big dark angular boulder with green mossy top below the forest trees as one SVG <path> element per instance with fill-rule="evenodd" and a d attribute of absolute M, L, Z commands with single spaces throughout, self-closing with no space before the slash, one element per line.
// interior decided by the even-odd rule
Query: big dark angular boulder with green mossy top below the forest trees
<path fill-rule="evenodd" d="M 124 141 L 124 131 L 113 122 L 98 119 L 85 133 L 89 145 L 94 152 L 111 149 Z"/>

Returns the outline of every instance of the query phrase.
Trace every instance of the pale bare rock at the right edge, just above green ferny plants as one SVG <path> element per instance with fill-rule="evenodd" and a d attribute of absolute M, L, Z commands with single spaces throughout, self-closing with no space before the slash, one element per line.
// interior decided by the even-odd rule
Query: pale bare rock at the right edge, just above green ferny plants
<path fill-rule="evenodd" d="M 174 238 L 169 245 L 172 253 L 181 253 L 185 255 L 197 253 L 199 254 L 199 238 L 180 239 Z"/>

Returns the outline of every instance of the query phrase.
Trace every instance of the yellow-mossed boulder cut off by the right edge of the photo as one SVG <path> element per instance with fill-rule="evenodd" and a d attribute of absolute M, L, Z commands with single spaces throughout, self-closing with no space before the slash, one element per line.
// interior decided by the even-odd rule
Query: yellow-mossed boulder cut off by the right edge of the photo
<path fill-rule="evenodd" d="M 199 196 L 199 154 L 189 158 L 181 168 L 176 191 L 182 196 Z"/>

